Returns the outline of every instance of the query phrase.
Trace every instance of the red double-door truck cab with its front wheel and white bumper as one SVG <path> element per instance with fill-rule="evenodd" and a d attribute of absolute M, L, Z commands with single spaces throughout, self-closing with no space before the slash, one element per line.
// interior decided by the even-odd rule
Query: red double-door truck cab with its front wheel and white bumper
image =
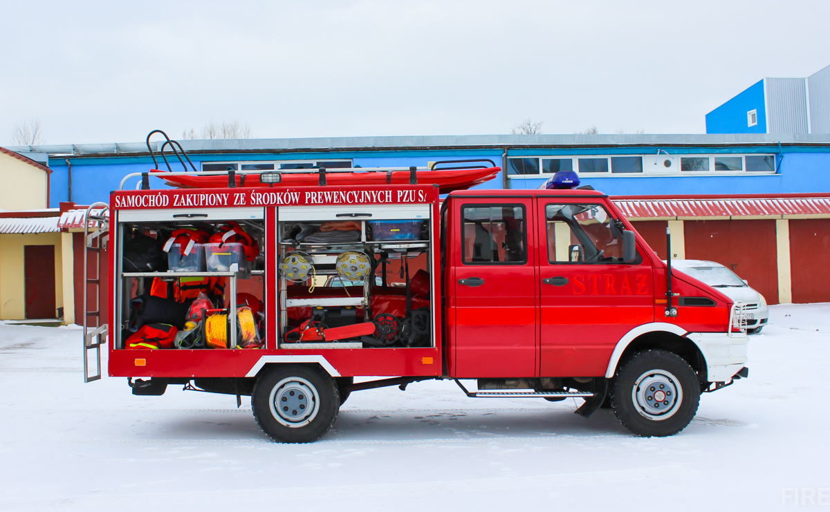
<path fill-rule="evenodd" d="M 701 391 L 745 372 L 747 338 L 728 328 L 735 304 L 685 274 L 668 292 L 666 263 L 602 192 L 457 191 L 442 226 L 454 378 L 480 379 L 480 389 L 483 379 L 493 389 L 588 390 L 627 406 L 633 414 L 620 419 L 632 431 L 667 435 L 691 421 Z M 632 378 L 633 401 L 631 385 L 615 385 Z M 682 379 L 684 404 L 671 398 Z M 652 381 L 664 399 L 638 403 Z"/>

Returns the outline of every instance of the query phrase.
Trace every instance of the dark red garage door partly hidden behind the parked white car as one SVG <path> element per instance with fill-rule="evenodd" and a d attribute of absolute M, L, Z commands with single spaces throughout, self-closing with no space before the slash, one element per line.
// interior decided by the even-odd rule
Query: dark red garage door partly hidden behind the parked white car
<path fill-rule="evenodd" d="M 686 220 L 683 225 L 686 258 L 725 265 L 769 304 L 778 304 L 775 220 Z"/>

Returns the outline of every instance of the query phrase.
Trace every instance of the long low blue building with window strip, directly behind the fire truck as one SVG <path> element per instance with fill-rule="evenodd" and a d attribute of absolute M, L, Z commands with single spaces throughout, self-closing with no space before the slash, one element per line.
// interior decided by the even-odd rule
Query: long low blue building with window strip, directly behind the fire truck
<path fill-rule="evenodd" d="M 152 143 L 158 150 L 160 142 Z M 567 169 L 615 196 L 830 192 L 830 135 L 821 134 L 234 139 L 182 145 L 202 170 L 427 167 L 442 160 L 486 158 L 504 171 L 480 188 L 536 188 L 555 171 Z M 123 176 L 153 167 L 144 143 L 10 149 L 48 162 L 52 206 L 107 201 Z M 168 159 L 173 170 L 182 170 L 175 157 Z M 166 168 L 161 159 L 159 167 Z M 134 178 L 125 186 L 137 183 Z"/>

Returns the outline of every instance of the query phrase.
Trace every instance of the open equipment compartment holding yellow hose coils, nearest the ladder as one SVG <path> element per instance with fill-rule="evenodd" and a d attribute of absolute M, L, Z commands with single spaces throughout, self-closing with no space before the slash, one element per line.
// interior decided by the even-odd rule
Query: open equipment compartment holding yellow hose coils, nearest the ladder
<path fill-rule="evenodd" d="M 264 346 L 264 208 L 116 210 L 114 221 L 116 350 Z"/>

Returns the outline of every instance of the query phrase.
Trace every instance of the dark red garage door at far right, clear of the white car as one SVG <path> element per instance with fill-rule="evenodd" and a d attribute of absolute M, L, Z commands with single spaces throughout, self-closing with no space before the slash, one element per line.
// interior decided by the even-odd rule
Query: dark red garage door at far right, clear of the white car
<path fill-rule="evenodd" d="M 830 219 L 789 221 L 793 302 L 830 302 Z"/>

